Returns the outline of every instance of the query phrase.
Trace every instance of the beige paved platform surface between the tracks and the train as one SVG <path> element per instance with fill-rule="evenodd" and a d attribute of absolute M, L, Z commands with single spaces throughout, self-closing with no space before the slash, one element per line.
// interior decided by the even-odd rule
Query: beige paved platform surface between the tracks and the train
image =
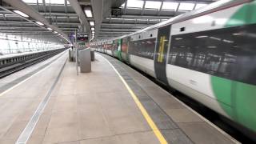
<path fill-rule="evenodd" d="M 17 141 L 63 65 L 27 143 L 160 143 L 130 91 L 166 142 L 234 143 L 154 82 L 102 55 L 105 58 L 95 55 L 91 73 L 77 75 L 75 64 L 66 62 L 67 54 L 63 54 L 42 72 L 0 94 L 0 143 Z"/>

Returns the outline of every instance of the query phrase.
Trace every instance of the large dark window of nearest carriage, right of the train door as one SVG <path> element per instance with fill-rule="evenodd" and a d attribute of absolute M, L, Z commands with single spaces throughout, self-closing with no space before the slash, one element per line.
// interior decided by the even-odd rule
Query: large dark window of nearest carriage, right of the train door
<path fill-rule="evenodd" d="M 256 84 L 255 26 L 252 24 L 174 35 L 168 63 Z"/>

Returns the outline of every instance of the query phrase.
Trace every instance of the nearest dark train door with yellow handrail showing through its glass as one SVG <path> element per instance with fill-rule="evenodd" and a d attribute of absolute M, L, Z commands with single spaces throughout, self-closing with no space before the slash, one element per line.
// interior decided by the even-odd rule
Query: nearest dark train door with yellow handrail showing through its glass
<path fill-rule="evenodd" d="M 154 72 L 156 78 L 168 84 L 166 78 L 166 58 L 170 41 L 170 26 L 164 26 L 158 29 L 158 38 L 154 53 Z"/>

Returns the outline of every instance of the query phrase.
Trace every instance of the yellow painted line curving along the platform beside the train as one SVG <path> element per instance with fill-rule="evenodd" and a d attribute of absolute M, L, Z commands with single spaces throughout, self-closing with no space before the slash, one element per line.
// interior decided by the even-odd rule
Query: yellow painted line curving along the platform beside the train
<path fill-rule="evenodd" d="M 100 55 L 100 54 L 98 54 L 98 55 Z M 102 58 L 104 58 L 102 55 L 100 55 L 100 56 Z M 130 89 L 130 86 L 122 78 L 122 75 L 119 74 L 118 70 L 116 70 L 114 68 L 114 66 L 106 58 L 104 58 L 104 59 L 106 60 L 106 62 L 108 62 L 110 64 L 110 66 L 114 69 L 115 73 L 118 74 L 118 77 L 122 80 L 122 83 L 126 86 L 126 89 L 129 91 L 130 95 L 134 99 L 134 102 L 137 104 L 139 110 L 141 110 L 142 115 L 146 119 L 146 122 L 150 125 L 150 128 L 153 130 L 155 136 L 158 138 L 158 141 L 161 144 L 167 144 L 168 142 L 166 142 L 166 138 L 163 137 L 161 131 L 158 129 L 158 126 L 156 126 L 154 121 L 152 120 L 152 118 L 150 118 L 150 114 L 148 114 L 146 109 L 144 108 L 144 106 L 142 106 L 142 103 L 138 100 L 138 97 L 136 96 L 136 94 L 134 94 L 134 91 Z"/>

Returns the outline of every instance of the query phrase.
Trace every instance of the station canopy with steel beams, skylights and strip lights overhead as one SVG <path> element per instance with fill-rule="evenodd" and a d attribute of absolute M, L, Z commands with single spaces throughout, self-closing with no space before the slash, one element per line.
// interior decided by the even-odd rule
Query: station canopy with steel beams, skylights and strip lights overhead
<path fill-rule="evenodd" d="M 19 38 L 40 38 L 57 43 L 74 42 L 75 33 L 88 36 L 92 41 L 119 37 L 214 2 L 214 0 L 2 1 L 0 33 L 17 35 Z M 15 13 L 14 10 L 21 11 L 28 18 L 18 14 L 17 11 Z"/>

